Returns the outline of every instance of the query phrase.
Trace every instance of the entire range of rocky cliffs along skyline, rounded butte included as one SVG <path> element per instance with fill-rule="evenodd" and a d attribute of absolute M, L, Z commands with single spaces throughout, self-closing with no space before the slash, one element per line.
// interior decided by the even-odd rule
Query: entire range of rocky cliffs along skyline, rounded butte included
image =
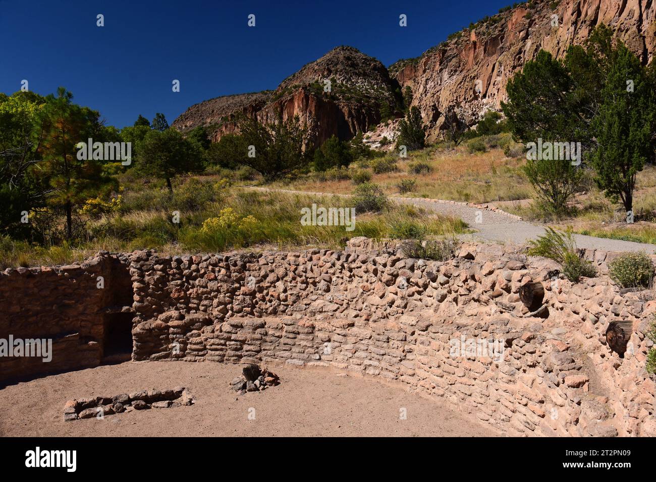
<path fill-rule="evenodd" d="M 557 3 L 557 5 L 556 5 Z M 238 113 L 273 121 L 277 111 L 298 115 L 317 143 L 337 134 L 349 139 L 380 121 L 380 107 L 394 112 L 400 90 L 409 87 L 412 104 L 428 126 L 428 139 L 440 136 L 443 113 L 457 111 L 474 125 L 489 109 L 499 110 L 506 83 L 527 60 L 546 49 L 562 58 L 606 24 L 643 62 L 656 50 L 654 0 L 533 0 L 486 18 L 421 56 L 400 60 L 389 71 L 352 47 L 337 47 L 287 77 L 273 92 L 218 97 L 196 104 L 173 123 L 180 131 L 210 128 L 213 140 L 235 129 Z M 331 92 L 325 92 L 325 81 Z M 400 89 L 401 88 L 401 89 Z"/>

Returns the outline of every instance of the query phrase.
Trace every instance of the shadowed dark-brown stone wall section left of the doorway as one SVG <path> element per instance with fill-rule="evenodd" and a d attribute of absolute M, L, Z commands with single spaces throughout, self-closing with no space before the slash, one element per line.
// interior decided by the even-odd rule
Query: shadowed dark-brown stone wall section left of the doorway
<path fill-rule="evenodd" d="M 44 361 L 38 353 L 26 356 L 17 351 L 15 354 L 20 355 L 14 356 L 2 353 L 0 348 L 0 382 L 100 363 L 104 319 L 116 310 L 117 294 L 126 289 L 131 294 L 125 276 L 117 274 L 123 270 L 127 275 L 125 265 L 121 268 L 121 258 L 125 260 L 124 255 L 101 253 L 81 265 L 9 268 L 0 272 L 0 344 L 6 346 L 12 339 L 15 344 L 9 349 L 15 351 L 19 344 L 30 343 L 28 340 L 40 340 L 41 353 L 50 351 L 50 360 Z"/>

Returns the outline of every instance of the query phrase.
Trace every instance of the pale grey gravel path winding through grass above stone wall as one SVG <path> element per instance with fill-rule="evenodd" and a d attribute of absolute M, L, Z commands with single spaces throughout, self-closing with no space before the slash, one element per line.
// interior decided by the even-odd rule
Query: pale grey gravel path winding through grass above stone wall
<path fill-rule="evenodd" d="M 268 188 L 249 188 L 264 191 L 278 191 L 292 194 L 306 194 L 317 196 L 338 195 L 348 197 L 346 194 L 331 194 L 309 191 L 292 191 Z M 461 218 L 475 229 L 474 238 L 484 241 L 499 241 L 502 243 L 514 243 L 525 245 L 527 240 L 535 239 L 544 233 L 544 228 L 529 222 L 516 219 L 505 212 L 492 211 L 491 209 L 480 209 L 465 203 L 453 201 L 441 201 L 440 199 L 425 199 L 423 197 L 390 197 L 391 201 L 398 204 L 415 205 L 424 209 L 447 214 Z M 647 243 L 633 243 L 632 241 L 621 241 L 619 239 L 604 239 L 600 237 L 574 235 L 577 247 L 585 249 L 600 249 L 602 251 L 645 251 L 656 253 L 656 245 Z"/>

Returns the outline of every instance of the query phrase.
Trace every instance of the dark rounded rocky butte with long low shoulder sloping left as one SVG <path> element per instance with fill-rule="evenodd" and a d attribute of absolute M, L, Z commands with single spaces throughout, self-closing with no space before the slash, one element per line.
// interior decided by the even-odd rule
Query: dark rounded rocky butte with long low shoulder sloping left
<path fill-rule="evenodd" d="M 387 69 L 353 47 L 337 47 L 287 77 L 273 92 L 225 96 L 196 104 L 173 123 L 180 131 L 198 125 L 209 128 L 216 141 L 236 129 L 241 113 L 262 122 L 298 116 L 312 141 L 321 144 L 333 134 L 349 139 L 380 121 L 380 106 L 393 110 L 398 100 L 396 81 Z"/>

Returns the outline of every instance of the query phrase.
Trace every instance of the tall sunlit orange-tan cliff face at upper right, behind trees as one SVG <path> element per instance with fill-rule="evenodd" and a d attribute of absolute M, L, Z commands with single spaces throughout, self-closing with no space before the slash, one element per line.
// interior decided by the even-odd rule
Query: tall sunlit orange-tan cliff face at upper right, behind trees
<path fill-rule="evenodd" d="M 452 35 L 419 58 L 390 66 L 401 87 L 412 89 L 429 140 L 439 136 L 449 108 L 475 124 L 486 110 L 499 110 L 508 79 L 540 49 L 562 58 L 569 45 L 583 43 L 600 24 L 615 31 L 643 62 L 653 57 L 652 0 L 562 0 L 552 7 L 545 0 L 508 10 Z"/>

